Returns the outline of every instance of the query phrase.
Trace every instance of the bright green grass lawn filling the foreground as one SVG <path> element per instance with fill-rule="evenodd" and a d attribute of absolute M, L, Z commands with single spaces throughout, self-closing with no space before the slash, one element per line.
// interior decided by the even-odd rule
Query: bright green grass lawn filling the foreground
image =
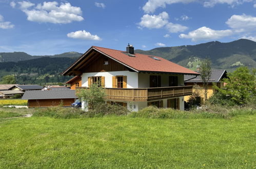
<path fill-rule="evenodd" d="M 256 115 L 0 121 L 0 168 L 253 168 Z"/>

